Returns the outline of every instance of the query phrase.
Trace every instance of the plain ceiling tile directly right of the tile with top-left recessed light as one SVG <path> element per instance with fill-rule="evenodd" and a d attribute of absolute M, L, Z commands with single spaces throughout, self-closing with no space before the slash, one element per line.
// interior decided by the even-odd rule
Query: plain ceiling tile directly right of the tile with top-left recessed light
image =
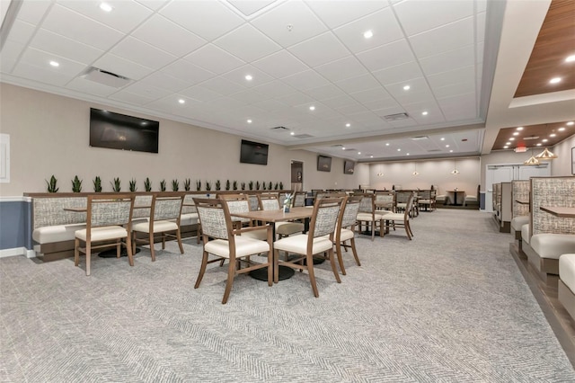
<path fill-rule="evenodd" d="M 187 55 L 207 43 L 206 40 L 159 14 L 154 14 L 140 25 L 132 36 L 155 47 L 162 47 L 177 57 Z M 169 38 L 166 39 L 166 36 Z"/>

